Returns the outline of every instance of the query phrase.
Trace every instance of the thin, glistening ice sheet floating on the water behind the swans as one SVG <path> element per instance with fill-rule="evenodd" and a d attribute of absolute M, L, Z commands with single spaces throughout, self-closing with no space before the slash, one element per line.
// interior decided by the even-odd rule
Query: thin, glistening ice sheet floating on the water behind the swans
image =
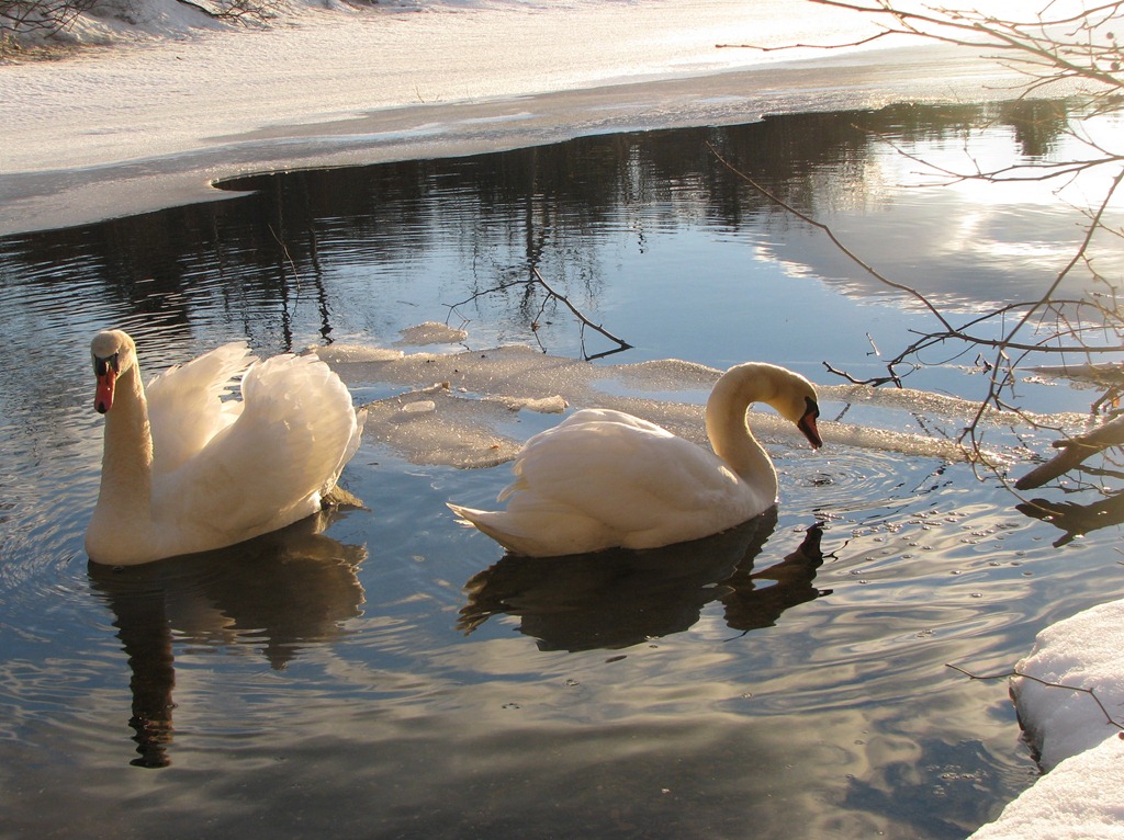
<path fill-rule="evenodd" d="M 706 445 L 703 402 L 722 374 L 680 359 L 595 365 L 526 346 L 404 353 L 334 345 L 317 351 L 348 385 L 379 383 L 401 389 L 368 407 L 368 440 L 382 441 L 414 463 L 457 467 L 491 466 L 513 458 L 532 433 L 516 422 L 519 412 L 561 413 L 568 408 L 627 411 Z M 613 387 L 601 386 L 607 382 Z M 917 413 L 952 418 L 953 427 L 968 422 L 977 410 L 972 402 L 918 391 L 859 385 L 818 390 L 822 405 L 863 402 L 909 418 Z M 677 392 L 690 393 L 685 395 L 688 399 L 676 400 Z M 992 412 L 988 420 L 1022 422 L 1001 412 Z M 803 446 L 797 429 L 770 410 L 751 411 L 750 424 L 765 445 Z M 945 460 L 967 457 L 963 446 L 951 438 L 890 426 L 836 422 L 826 412 L 821 418 L 821 433 L 828 445 Z"/>

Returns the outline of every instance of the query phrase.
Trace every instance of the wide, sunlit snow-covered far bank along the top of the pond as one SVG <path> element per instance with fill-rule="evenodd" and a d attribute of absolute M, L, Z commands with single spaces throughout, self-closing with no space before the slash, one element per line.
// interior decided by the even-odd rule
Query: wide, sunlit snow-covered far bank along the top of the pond
<path fill-rule="evenodd" d="M 309 3 L 219 29 L 175 0 L 139 8 L 127 30 L 76 25 L 111 49 L 0 66 L 0 235 L 214 200 L 211 182 L 253 172 L 1010 90 L 994 64 L 934 46 L 716 48 L 871 31 L 800 0 Z"/>

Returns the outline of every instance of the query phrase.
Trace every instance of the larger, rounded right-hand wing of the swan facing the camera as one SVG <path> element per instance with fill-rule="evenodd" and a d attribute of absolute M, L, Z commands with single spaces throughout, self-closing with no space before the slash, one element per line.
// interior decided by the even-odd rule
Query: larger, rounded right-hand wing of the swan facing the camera
<path fill-rule="evenodd" d="M 315 512 L 354 453 L 351 394 L 315 356 L 254 365 L 242 394 L 237 419 L 158 487 L 160 514 L 210 539 L 247 539 Z"/>

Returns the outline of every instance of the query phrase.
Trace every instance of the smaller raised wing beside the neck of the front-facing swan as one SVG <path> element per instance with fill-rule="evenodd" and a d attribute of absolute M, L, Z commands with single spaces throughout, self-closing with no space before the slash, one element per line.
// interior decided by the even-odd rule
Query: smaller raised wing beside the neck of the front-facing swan
<path fill-rule="evenodd" d="M 170 367 L 148 383 L 145 395 L 153 472 L 167 473 L 182 466 L 235 421 L 242 403 L 221 398 L 255 360 L 245 341 L 234 341 Z"/>

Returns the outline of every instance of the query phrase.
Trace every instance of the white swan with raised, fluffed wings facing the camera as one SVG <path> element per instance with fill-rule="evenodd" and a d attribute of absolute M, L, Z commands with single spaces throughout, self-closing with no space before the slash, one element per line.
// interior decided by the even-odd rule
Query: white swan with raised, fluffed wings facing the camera
<path fill-rule="evenodd" d="M 359 448 L 362 414 L 315 356 L 264 363 L 244 341 L 140 383 L 120 330 L 91 345 L 106 416 L 101 489 L 85 533 L 96 563 L 208 551 L 320 510 Z M 221 399 L 242 377 L 242 400 Z"/>

